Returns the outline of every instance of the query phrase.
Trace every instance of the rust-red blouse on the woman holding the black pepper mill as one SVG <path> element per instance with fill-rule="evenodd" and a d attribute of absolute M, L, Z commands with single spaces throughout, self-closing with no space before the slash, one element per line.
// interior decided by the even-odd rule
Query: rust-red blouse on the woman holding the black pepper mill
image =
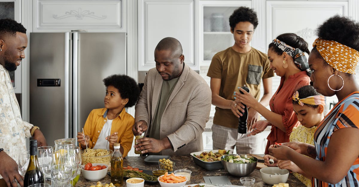
<path fill-rule="evenodd" d="M 272 112 L 282 115 L 285 132 L 272 125 L 271 132 L 267 137 L 268 142 L 265 154 L 268 154 L 269 146 L 275 142 L 289 142 L 289 135 L 292 133 L 293 127 L 300 125 L 293 111 L 292 96 L 294 91 L 300 87 L 309 85 L 309 82 L 310 79 L 306 71 L 295 73 L 289 76 L 288 80 L 285 81 L 284 77 L 281 77 L 278 90 L 269 101 L 269 106 Z"/>

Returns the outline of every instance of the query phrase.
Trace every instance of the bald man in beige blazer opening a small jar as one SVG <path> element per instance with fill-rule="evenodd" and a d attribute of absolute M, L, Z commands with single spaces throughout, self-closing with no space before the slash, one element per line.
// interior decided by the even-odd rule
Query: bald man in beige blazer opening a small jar
<path fill-rule="evenodd" d="M 141 153 L 188 155 L 202 151 L 202 132 L 211 110 L 211 90 L 185 64 L 181 43 L 162 39 L 155 49 L 156 68 L 146 75 L 135 107 L 134 147 Z"/>

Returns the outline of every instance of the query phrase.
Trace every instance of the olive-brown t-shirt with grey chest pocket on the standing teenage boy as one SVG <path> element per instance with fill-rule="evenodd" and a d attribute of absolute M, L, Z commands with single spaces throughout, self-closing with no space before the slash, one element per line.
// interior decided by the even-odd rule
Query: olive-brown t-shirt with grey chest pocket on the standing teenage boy
<path fill-rule="evenodd" d="M 252 48 L 248 53 L 238 53 L 232 47 L 216 53 L 207 76 L 221 79 L 219 96 L 224 99 L 234 100 L 234 91 L 237 87 L 246 85 L 250 94 L 257 100 L 260 98 L 262 78 L 274 76 L 273 70 L 269 67 L 268 56 L 265 53 Z M 238 127 L 238 118 L 230 109 L 215 108 L 213 123 L 229 128 Z"/>

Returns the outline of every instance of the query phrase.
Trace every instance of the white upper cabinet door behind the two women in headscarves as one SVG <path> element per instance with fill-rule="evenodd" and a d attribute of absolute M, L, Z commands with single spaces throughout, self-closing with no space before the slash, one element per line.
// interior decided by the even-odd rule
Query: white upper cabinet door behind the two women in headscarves
<path fill-rule="evenodd" d="M 348 16 L 348 1 L 267 1 L 267 47 L 283 33 L 295 33 L 311 50 L 315 29 L 335 14 Z"/>

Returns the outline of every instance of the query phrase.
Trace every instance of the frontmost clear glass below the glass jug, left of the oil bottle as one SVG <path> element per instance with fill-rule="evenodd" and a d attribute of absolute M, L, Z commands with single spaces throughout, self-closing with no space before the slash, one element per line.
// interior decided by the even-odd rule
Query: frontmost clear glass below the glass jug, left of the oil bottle
<path fill-rule="evenodd" d="M 68 186 L 72 175 L 72 167 L 66 164 L 57 164 L 51 168 L 52 187 Z"/>

